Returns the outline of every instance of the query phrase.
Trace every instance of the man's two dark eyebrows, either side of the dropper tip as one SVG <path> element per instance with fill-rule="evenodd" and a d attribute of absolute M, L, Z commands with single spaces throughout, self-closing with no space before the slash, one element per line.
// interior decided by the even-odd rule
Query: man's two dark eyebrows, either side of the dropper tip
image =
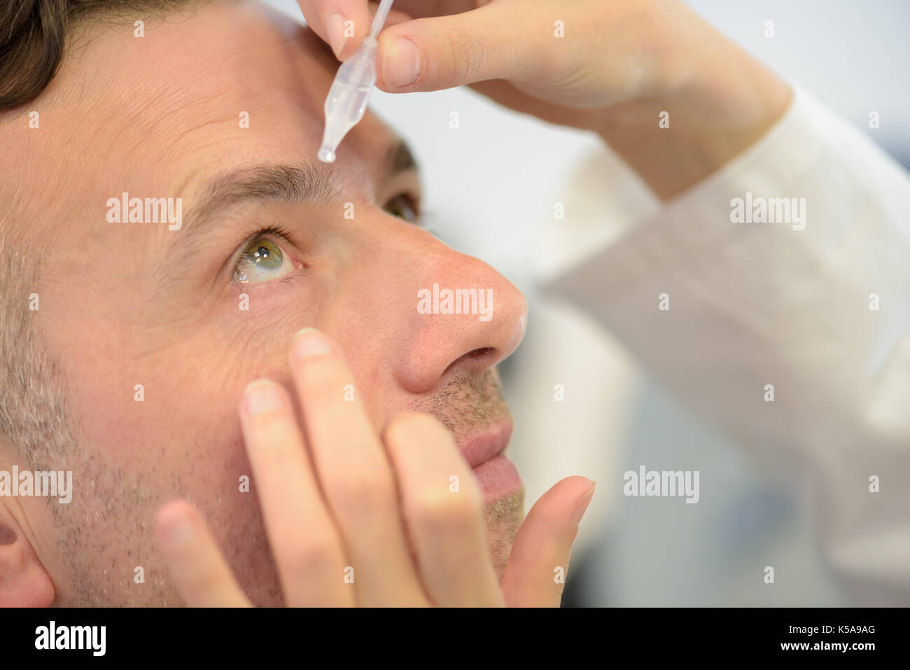
<path fill-rule="evenodd" d="M 338 194 L 336 168 L 321 161 L 298 164 L 265 164 L 222 173 L 208 182 L 203 197 L 187 213 L 186 234 L 177 235 L 187 245 L 207 237 L 230 208 L 249 202 L 308 203 L 329 200 Z M 389 181 L 402 172 L 419 170 L 404 140 L 386 151 L 380 178 Z M 177 239 L 175 242 L 177 242 Z"/>

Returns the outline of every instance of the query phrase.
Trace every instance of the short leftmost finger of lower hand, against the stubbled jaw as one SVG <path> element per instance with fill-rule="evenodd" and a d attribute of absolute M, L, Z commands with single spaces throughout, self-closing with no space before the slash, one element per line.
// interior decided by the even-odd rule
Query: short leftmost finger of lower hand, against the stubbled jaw
<path fill-rule="evenodd" d="M 155 533 L 177 592 L 190 607 L 249 607 L 206 523 L 187 501 L 158 510 Z"/>

